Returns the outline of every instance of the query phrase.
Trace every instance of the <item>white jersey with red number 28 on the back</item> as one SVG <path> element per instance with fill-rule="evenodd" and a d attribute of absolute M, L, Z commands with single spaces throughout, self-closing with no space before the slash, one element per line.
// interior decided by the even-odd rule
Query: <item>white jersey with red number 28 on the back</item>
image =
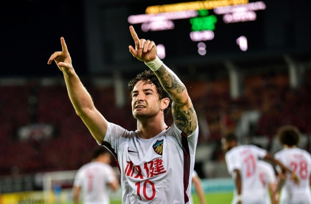
<path fill-rule="evenodd" d="M 294 171 L 300 180 L 300 184 L 296 185 L 290 179 L 290 175 L 287 175 L 287 179 L 281 190 L 280 204 L 310 204 L 310 153 L 300 148 L 285 148 L 277 152 L 274 157 Z M 280 167 L 278 167 L 278 170 L 280 171 Z"/>

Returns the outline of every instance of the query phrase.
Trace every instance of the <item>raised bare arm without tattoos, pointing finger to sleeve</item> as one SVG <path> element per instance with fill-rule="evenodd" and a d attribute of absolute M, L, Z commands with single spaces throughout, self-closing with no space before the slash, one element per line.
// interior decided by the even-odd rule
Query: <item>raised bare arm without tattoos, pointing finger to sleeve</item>
<path fill-rule="evenodd" d="M 91 95 L 73 69 L 71 57 L 63 37 L 61 38 L 61 43 L 63 51 L 52 54 L 48 64 L 51 64 L 54 60 L 58 68 L 63 72 L 69 99 L 77 115 L 80 116 L 94 139 L 101 143 L 106 135 L 108 122 L 95 108 Z"/>

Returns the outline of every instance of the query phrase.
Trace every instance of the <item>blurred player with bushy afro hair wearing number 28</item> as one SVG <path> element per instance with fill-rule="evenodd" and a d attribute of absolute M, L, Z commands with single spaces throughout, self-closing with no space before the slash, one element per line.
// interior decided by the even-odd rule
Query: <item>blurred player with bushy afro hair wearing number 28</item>
<path fill-rule="evenodd" d="M 284 149 L 277 152 L 274 157 L 289 166 L 300 179 L 300 185 L 296 185 L 286 172 L 277 168 L 279 174 L 285 177 L 278 186 L 280 189 L 284 184 L 280 194 L 280 204 L 310 204 L 311 156 L 307 151 L 296 147 L 300 132 L 295 126 L 283 126 L 278 130 L 278 137 Z"/>

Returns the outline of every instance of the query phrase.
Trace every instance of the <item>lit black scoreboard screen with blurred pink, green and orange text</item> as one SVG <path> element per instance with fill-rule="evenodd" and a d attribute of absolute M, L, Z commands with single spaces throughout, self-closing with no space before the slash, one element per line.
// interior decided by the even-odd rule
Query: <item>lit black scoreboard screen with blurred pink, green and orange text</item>
<path fill-rule="evenodd" d="M 145 5 L 131 11 L 128 23 L 156 42 L 161 58 L 242 53 L 264 49 L 266 9 L 248 0 Z"/>

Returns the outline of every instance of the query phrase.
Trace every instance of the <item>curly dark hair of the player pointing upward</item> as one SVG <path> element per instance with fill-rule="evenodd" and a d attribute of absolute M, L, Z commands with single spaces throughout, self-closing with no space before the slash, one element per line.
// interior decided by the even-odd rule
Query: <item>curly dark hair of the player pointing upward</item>
<path fill-rule="evenodd" d="M 132 98 L 132 91 L 134 86 L 138 81 L 143 81 L 144 84 L 154 84 L 156 86 L 157 94 L 159 96 L 159 101 L 164 98 L 169 98 L 169 105 L 164 110 L 164 117 L 169 113 L 169 110 L 172 105 L 172 99 L 169 94 L 164 90 L 163 86 L 161 85 L 159 79 L 157 78 L 156 74 L 151 70 L 146 70 L 140 74 L 137 74 L 135 78 L 133 78 L 130 82 L 128 82 L 128 91 Z"/>

